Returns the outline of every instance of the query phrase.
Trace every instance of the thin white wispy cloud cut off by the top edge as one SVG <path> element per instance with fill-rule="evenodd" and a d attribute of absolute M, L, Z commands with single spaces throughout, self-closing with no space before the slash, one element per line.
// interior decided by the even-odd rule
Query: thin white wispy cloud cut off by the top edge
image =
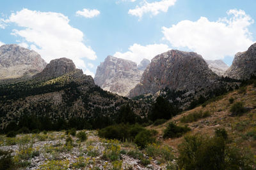
<path fill-rule="evenodd" d="M 173 6 L 176 0 L 161 0 L 154 3 L 143 1 L 141 6 L 136 6 L 135 9 L 129 10 L 128 13 L 136 17 L 142 17 L 145 13 L 152 13 L 157 15 L 160 11 L 166 12 L 170 6 Z"/>

